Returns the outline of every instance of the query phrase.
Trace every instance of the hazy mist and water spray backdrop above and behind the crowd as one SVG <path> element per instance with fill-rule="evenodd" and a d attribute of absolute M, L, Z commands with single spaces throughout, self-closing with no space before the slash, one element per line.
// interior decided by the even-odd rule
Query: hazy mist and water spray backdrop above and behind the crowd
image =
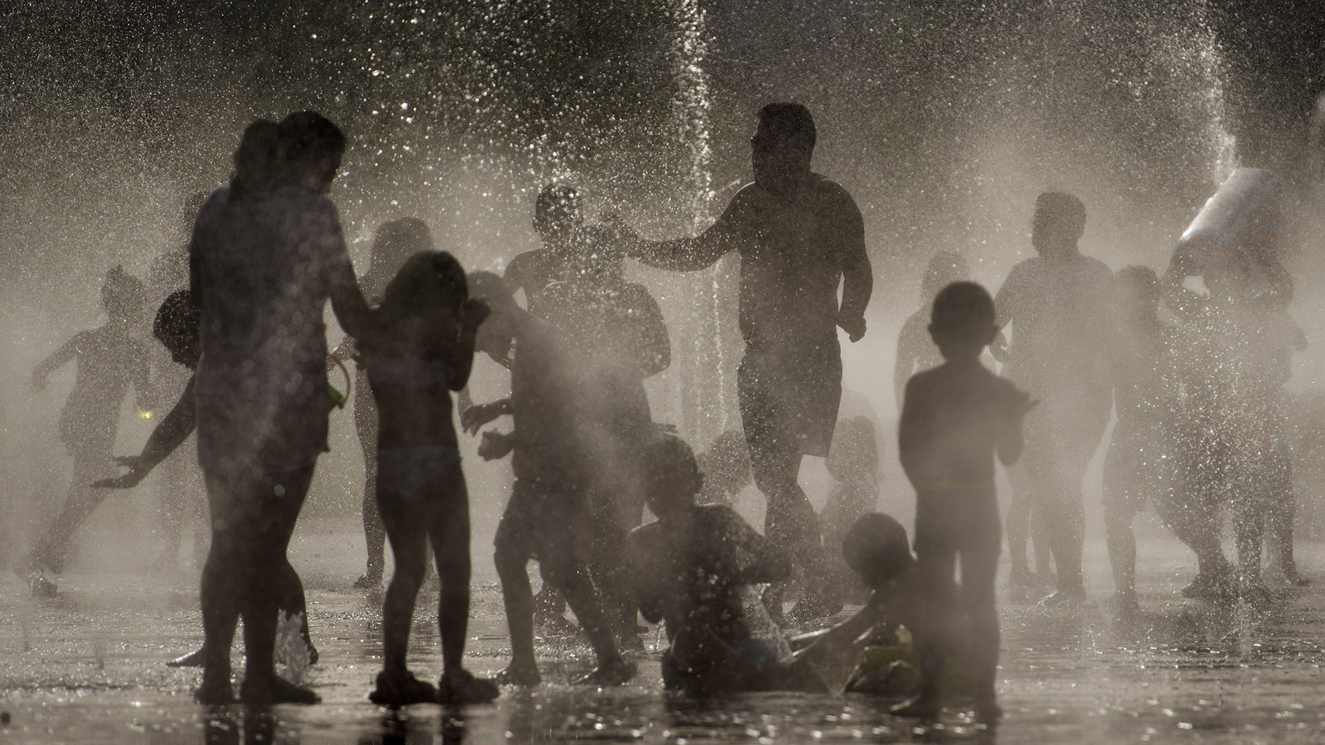
<path fill-rule="evenodd" d="M 1318 3 L 201 5 L 0 5 L 0 562 L 68 487 L 56 420 L 73 366 L 41 395 L 32 366 L 103 321 L 107 269 L 142 276 L 187 239 L 184 199 L 228 178 L 245 123 L 298 109 L 351 138 L 333 199 L 362 269 L 375 227 L 400 216 L 427 220 L 466 266 L 500 268 L 537 247 L 533 198 L 551 179 L 648 235 L 692 231 L 710 192 L 747 176 L 758 107 L 808 105 L 815 168 L 865 215 L 876 296 L 869 335 L 844 349 L 844 414 L 876 415 L 885 457 L 896 327 L 918 306 L 924 262 L 961 249 L 996 289 L 1030 255 L 1045 188 L 1086 203 L 1084 251 L 1161 269 L 1222 175 L 1276 170 L 1297 205 L 1293 313 L 1313 342 L 1293 384 L 1325 359 L 1308 137 L 1325 90 Z M 651 382 L 656 418 L 696 445 L 738 424 L 730 273 L 636 272 L 673 334 L 673 370 Z M 504 386 L 476 369 L 480 400 Z M 136 452 L 148 427 L 126 414 L 117 452 Z M 485 540 L 509 467 L 470 455 L 466 471 Z M 351 415 L 337 412 L 309 517 L 355 516 L 360 473 Z M 93 530 L 151 541 L 154 488 L 107 502 Z M 884 488 L 909 504 L 896 473 Z"/>

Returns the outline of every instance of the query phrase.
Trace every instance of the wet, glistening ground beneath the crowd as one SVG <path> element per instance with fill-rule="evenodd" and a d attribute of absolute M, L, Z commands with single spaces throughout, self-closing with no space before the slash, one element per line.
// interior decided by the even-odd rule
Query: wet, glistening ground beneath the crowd
<path fill-rule="evenodd" d="M 326 541 L 352 545 L 352 536 Z M 315 545 L 318 540 L 303 541 Z M 959 711 L 943 726 L 913 729 L 893 701 L 864 696 L 669 697 L 659 683 L 655 635 L 641 675 L 619 689 L 562 683 L 587 671 L 587 647 L 549 642 L 534 691 L 504 691 L 494 705 L 391 712 L 366 699 L 380 658 L 380 597 L 348 590 L 354 557 L 295 550 L 322 661 L 317 707 L 205 709 L 192 703 L 197 671 L 164 661 L 200 640 L 196 586 L 187 575 L 73 574 L 60 597 L 32 601 L 12 575 L 0 585 L 0 724 L 7 741 L 207 742 L 1312 742 L 1325 740 L 1325 591 L 1281 590 L 1268 608 L 1215 608 L 1178 597 L 1191 559 L 1178 544 L 1141 549 L 1142 611 L 1118 619 L 1102 546 L 1089 547 L 1093 602 L 1044 610 L 1032 593 L 1000 590 L 1007 718 L 996 732 Z M 1310 575 L 1325 546 L 1306 545 Z M 440 673 L 436 594 L 420 603 L 411 667 Z M 505 622 L 490 578 L 476 581 L 468 664 L 505 661 Z M 238 660 L 236 660 L 238 663 Z M 3 716 L 0 716 L 3 720 Z"/>

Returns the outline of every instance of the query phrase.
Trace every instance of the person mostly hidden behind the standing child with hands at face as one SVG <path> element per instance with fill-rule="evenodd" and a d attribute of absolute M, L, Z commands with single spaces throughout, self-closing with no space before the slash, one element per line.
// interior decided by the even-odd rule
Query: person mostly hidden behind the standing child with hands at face
<path fill-rule="evenodd" d="M 372 239 L 368 270 L 359 277 L 359 286 L 368 302 L 380 302 L 382 293 L 391 277 L 404 265 L 407 258 L 420 251 L 432 251 L 432 233 L 428 232 L 428 225 L 423 220 L 403 217 L 378 227 Z M 352 358 L 355 355 L 354 338 L 346 337 L 331 354 L 341 359 Z M 382 516 L 378 514 L 378 403 L 368 390 L 368 372 L 363 365 L 355 366 L 354 428 L 359 435 L 359 447 L 363 448 L 362 514 L 363 538 L 368 550 L 368 563 L 363 570 L 363 577 L 355 579 L 354 586 L 370 590 L 382 586 L 387 536 L 382 526 Z"/>

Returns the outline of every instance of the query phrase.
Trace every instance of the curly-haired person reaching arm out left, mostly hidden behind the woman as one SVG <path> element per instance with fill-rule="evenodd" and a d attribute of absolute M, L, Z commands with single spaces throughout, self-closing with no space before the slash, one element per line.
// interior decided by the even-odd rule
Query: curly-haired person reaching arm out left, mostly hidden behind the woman
<path fill-rule="evenodd" d="M 170 354 L 172 362 L 188 371 L 197 370 L 197 362 L 203 351 L 199 346 L 199 331 L 201 314 L 189 290 L 175 290 L 166 302 L 156 310 L 156 319 L 152 323 L 152 335 L 162 343 Z M 147 437 L 143 451 L 139 455 L 117 456 L 115 463 L 129 468 L 129 471 L 115 479 L 94 481 L 93 487 L 107 489 L 131 489 L 138 485 L 158 464 L 174 453 L 197 426 L 197 399 L 193 395 L 193 375 L 189 374 L 180 391 L 179 400 L 162 416 L 152 433 Z M 196 455 L 196 451 L 195 451 Z M 183 501 L 183 500 L 176 500 Z M 286 561 L 278 567 L 285 583 L 285 593 L 281 597 L 281 611 L 299 618 L 299 635 L 309 650 L 309 664 L 318 661 L 318 651 L 309 636 L 309 612 L 303 595 L 303 583 L 299 575 Z M 197 650 L 182 658 L 176 658 L 167 667 L 201 667 L 207 659 L 205 650 Z"/>

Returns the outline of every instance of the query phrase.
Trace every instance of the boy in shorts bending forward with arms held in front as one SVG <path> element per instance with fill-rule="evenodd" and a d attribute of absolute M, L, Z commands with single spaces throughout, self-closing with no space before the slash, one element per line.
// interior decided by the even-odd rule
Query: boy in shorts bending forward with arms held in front
<path fill-rule="evenodd" d="M 575 361 L 560 331 L 515 305 L 500 277 L 476 272 L 469 276 L 469 289 L 492 308 L 476 345 L 493 359 L 510 361 L 510 398 L 466 408 L 461 426 L 476 433 L 504 414 L 510 414 L 515 426 L 507 433 L 484 432 L 478 445 L 484 460 L 513 452 L 515 472 L 493 541 L 511 644 L 510 665 L 498 681 L 537 685 L 542 680 L 534 659 L 534 593 L 527 570 L 529 561 L 538 559 L 543 582 L 566 597 L 594 646 L 598 667 L 580 681 L 625 683 L 635 665 L 617 652 L 587 573 L 594 544 L 588 502 L 592 472 Z"/>

